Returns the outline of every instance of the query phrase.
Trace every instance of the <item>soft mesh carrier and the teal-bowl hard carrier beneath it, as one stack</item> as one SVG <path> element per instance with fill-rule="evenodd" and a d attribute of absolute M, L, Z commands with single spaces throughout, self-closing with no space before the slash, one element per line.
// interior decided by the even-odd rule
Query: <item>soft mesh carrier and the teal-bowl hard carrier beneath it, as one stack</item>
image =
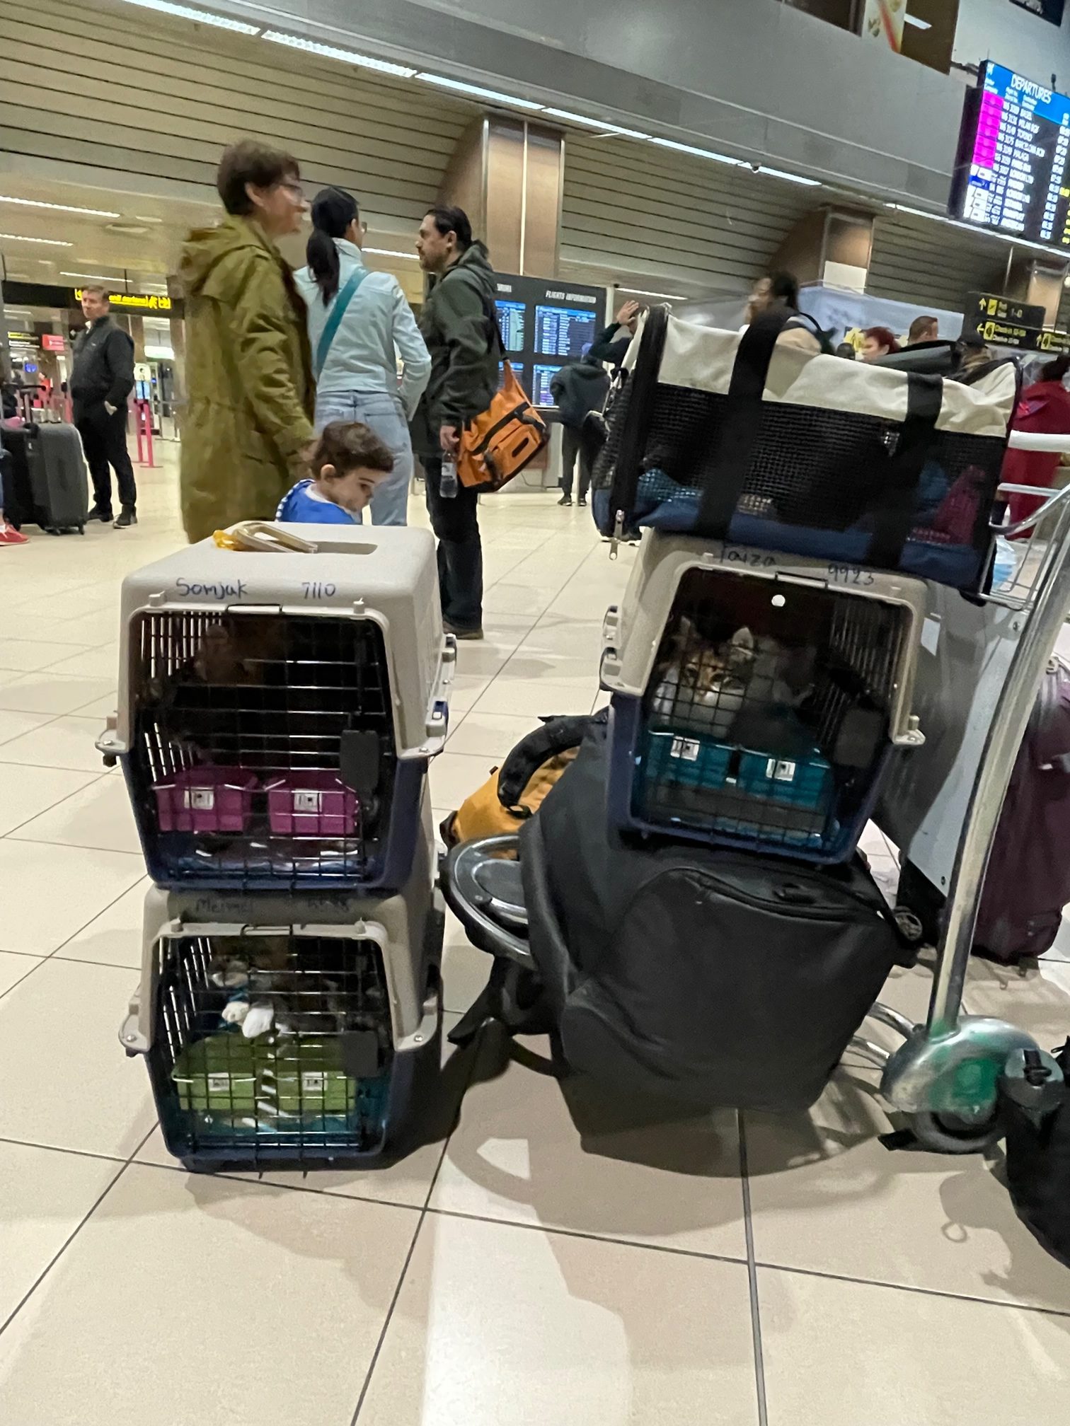
<path fill-rule="evenodd" d="M 595 513 L 665 533 L 606 622 L 611 817 L 836 863 L 922 742 L 923 578 L 987 568 L 1017 382 L 815 358 L 786 319 L 740 339 L 656 312 L 629 352 Z"/>

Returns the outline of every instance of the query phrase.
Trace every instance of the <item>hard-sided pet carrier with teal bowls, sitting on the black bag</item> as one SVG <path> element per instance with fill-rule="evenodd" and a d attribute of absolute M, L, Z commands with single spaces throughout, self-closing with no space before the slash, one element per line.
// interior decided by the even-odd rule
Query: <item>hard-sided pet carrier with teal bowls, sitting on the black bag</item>
<path fill-rule="evenodd" d="M 605 623 L 615 826 L 847 858 L 910 713 L 924 586 L 651 535 Z"/>

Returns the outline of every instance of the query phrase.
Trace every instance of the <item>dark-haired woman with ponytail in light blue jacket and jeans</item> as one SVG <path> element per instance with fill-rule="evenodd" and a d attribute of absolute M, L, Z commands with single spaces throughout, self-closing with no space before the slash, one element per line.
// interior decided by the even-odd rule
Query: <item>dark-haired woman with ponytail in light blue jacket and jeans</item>
<path fill-rule="evenodd" d="M 412 481 L 408 422 L 431 358 L 398 279 L 364 265 L 364 228 L 357 200 L 345 190 L 324 188 L 312 202 L 308 267 L 295 277 L 308 307 L 315 429 L 331 421 L 371 426 L 394 456 L 394 473 L 375 491 L 371 516 L 375 525 L 404 525 Z"/>

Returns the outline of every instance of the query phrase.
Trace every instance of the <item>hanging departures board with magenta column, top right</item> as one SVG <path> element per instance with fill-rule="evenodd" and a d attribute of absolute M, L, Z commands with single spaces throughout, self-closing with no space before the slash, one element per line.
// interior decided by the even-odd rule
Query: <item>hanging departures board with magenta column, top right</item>
<path fill-rule="evenodd" d="M 966 116 L 952 212 L 1070 248 L 1070 98 L 987 63 Z"/>

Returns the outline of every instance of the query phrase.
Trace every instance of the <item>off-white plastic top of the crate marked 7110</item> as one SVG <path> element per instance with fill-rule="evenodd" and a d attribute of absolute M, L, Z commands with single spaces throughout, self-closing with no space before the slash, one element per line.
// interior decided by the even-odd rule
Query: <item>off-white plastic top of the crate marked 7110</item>
<path fill-rule="evenodd" d="M 315 553 L 220 549 L 201 540 L 123 580 L 118 716 L 108 752 L 130 752 L 131 620 L 143 613 L 250 610 L 370 619 L 382 630 L 398 757 L 441 750 L 457 643 L 442 630 L 435 540 L 395 526 L 280 525 Z"/>

